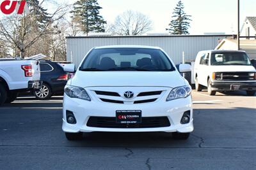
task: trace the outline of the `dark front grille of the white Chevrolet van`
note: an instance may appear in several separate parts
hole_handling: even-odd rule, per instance
[[[248,72],[223,72],[216,73],[216,80],[247,81],[252,80]]]

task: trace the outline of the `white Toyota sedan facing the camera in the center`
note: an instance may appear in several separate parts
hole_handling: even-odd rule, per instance
[[[83,132],[171,132],[188,139],[194,129],[191,87],[180,75],[188,71],[188,64],[175,67],[158,47],[93,48],[65,87],[67,139]]]

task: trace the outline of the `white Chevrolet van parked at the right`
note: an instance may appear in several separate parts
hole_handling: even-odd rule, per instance
[[[211,96],[218,91],[246,90],[248,96],[254,96],[256,92],[256,70],[243,51],[199,52],[194,76],[196,90],[207,87]]]

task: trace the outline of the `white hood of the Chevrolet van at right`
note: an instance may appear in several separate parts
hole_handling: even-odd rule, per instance
[[[211,70],[214,72],[255,72],[253,66],[212,66]]]

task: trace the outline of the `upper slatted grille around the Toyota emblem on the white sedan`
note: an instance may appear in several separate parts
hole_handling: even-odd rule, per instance
[[[143,103],[153,103],[161,97],[163,90],[150,91],[150,92],[137,92],[137,96],[133,99],[125,99],[118,92],[109,92],[109,91],[99,91],[93,90],[96,96],[100,101],[106,103],[115,103],[115,104],[143,104]]]

